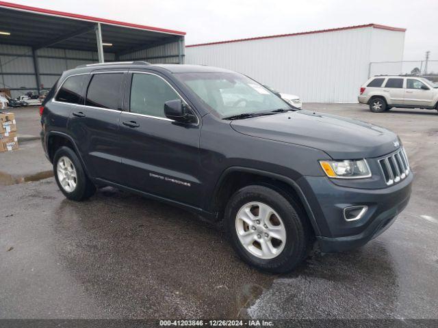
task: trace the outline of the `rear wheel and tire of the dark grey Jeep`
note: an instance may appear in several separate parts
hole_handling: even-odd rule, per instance
[[[57,187],[69,200],[86,200],[96,192],[96,187],[86,176],[77,154],[69,147],[61,147],[55,152],[53,173]]]

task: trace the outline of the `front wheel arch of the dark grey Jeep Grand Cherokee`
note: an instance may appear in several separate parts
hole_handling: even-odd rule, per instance
[[[320,228],[316,222],[313,211],[307,201],[307,197],[302,192],[298,184],[287,176],[275,174],[272,172],[263,171],[260,169],[252,169],[248,167],[229,167],[222,172],[213,193],[213,202],[211,204],[211,212],[217,213],[218,219],[223,219],[224,208],[229,200],[238,189],[250,184],[261,184],[266,187],[271,187],[277,192],[292,197],[302,210],[307,215],[309,223],[313,228],[316,236],[320,235]]]

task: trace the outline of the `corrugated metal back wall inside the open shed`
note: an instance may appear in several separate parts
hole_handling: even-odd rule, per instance
[[[82,64],[98,62],[97,52],[64,49],[37,51],[40,83],[50,88],[64,70]],[[105,60],[114,61],[113,53],[105,53]],[[0,88],[12,89],[12,97],[36,92],[36,77],[32,50],[28,46],[0,44]],[[16,90],[14,90],[16,89]]]

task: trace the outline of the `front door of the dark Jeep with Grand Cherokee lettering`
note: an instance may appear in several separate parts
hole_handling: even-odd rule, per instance
[[[120,140],[127,186],[199,206],[199,117],[196,123],[166,118],[164,103],[183,98],[171,81],[155,72],[130,72],[125,98]]]

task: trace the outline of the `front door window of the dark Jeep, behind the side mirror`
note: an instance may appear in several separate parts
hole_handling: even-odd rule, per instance
[[[180,99],[177,92],[153,74],[133,74],[130,109],[132,113],[166,118],[164,102]]]

